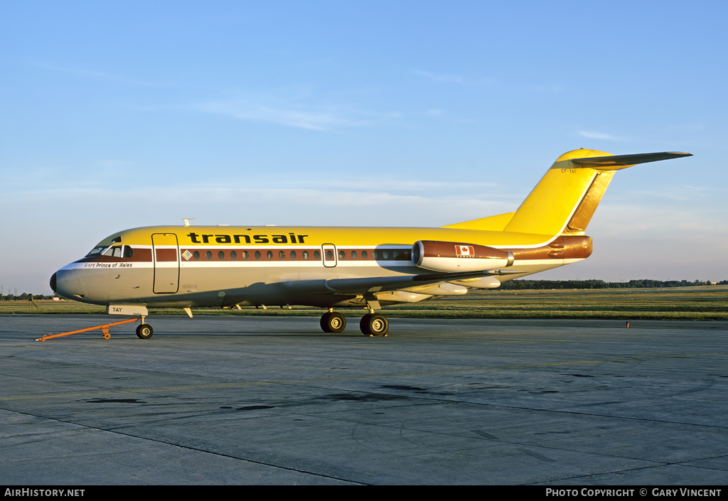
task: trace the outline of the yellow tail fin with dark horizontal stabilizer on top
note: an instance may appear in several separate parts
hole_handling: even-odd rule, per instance
[[[577,149],[558,157],[503,229],[549,235],[583,234],[612,181],[614,171],[689,153],[612,155]]]

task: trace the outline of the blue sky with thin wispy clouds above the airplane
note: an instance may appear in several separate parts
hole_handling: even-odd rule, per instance
[[[156,224],[442,226],[577,148],[617,173],[587,261],[728,279],[728,4],[0,1],[0,285]]]

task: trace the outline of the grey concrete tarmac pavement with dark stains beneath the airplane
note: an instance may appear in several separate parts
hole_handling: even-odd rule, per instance
[[[709,485],[728,324],[0,316],[0,484]]]

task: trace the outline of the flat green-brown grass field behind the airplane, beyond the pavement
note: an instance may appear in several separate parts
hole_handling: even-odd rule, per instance
[[[104,313],[105,307],[75,301],[0,301],[0,315],[13,313]],[[362,309],[338,309],[358,317]],[[321,308],[192,309],[194,315],[320,316]],[[596,318],[620,320],[728,320],[728,285],[653,289],[471,291],[422,303],[384,307],[388,317],[410,318]],[[151,315],[185,315],[181,309],[151,309]]]

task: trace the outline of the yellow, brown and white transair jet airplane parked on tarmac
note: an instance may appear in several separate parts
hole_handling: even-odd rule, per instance
[[[515,212],[440,228],[149,226],[116,232],[50,279],[68,299],[141,317],[148,308],[320,307],[327,333],[368,312],[365,336],[386,336],[379,310],[456,296],[561,267],[592,253],[585,230],[617,170],[692,154],[612,155],[577,149],[558,157]]]

